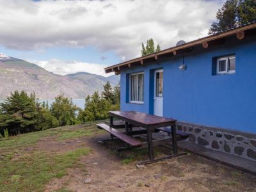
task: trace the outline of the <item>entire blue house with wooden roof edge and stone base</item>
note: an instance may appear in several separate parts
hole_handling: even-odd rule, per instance
[[[105,68],[121,110],[178,120],[189,142],[256,161],[256,23]]]

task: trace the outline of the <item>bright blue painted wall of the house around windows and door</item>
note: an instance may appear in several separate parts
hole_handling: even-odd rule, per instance
[[[212,59],[236,54],[236,74],[212,75]],[[182,57],[173,56],[121,71],[121,109],[153,113],[152,76],[164,69],[163,116],[181,122],[256,132],[256,38],[228,38],[224,45],[195,47]],[[127,74],[144,72],[144,104],[127,100]],[[151,87],[150,87],[151,86]]]

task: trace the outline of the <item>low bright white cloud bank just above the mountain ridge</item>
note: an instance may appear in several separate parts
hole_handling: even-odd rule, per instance
[[[97,63],[86,63],[79,61],[63,61],[58,59],[52,59],[49,61],[29,61],[35,63],[42,68],[45,68],[48,71],[53,72],[54,74],[67,75],[74,74],[76,72],[89,72],[91,74],[98,74],[101,76],[109,76],[105,74],[104,67],[105,65]]]

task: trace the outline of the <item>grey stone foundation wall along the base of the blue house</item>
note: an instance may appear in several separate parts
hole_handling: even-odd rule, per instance
[[[187,139],[212,150],[256,161],[256,134],[177,122],[177,129],[191,134]]]

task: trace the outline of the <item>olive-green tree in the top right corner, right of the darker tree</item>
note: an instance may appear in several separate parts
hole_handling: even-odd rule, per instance
[[[246,24],[256,20],[256,1],[239,0],[237,7],[239,24]]]

